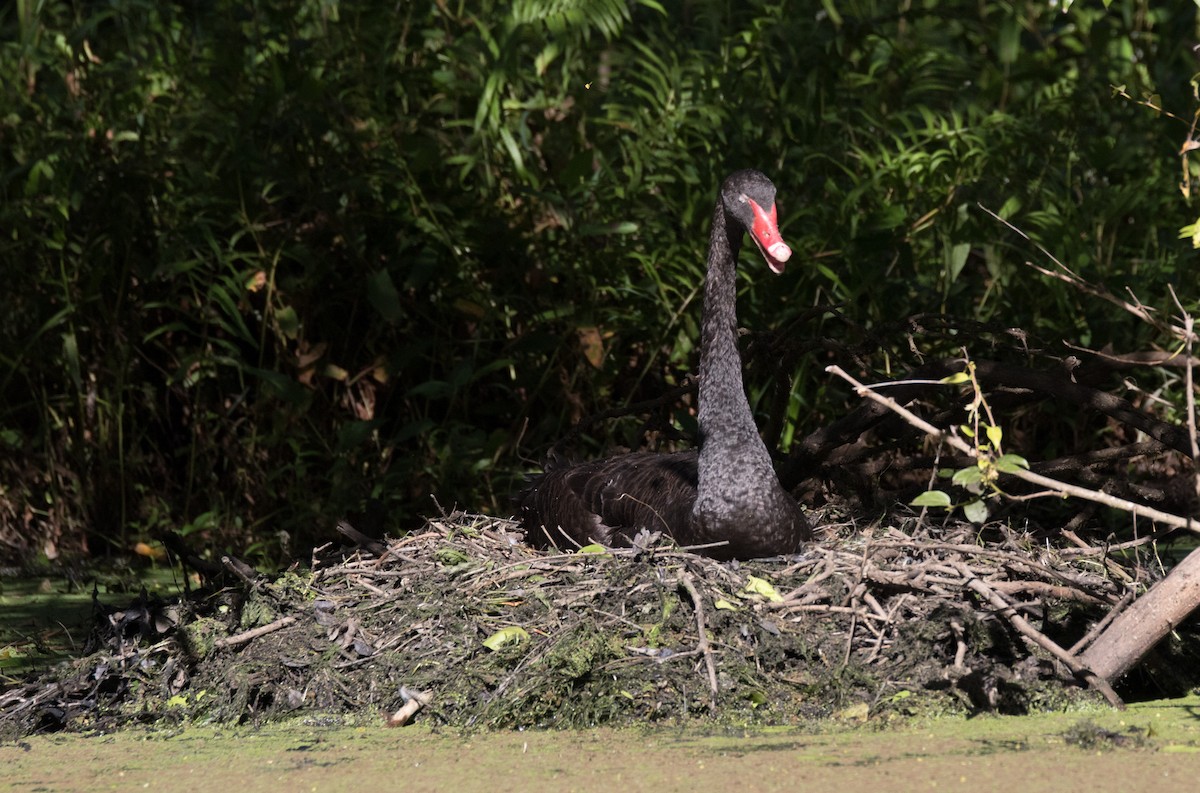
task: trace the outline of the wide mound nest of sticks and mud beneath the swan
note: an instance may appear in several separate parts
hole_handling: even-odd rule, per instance
[[[719,563],[656,536],[547,554],[461,512],[386,542],[343,524],[360,542],[318,548],[310,570],[266,579],[226,558],[180,601],[97,603],[91,653],[10,686],[0,732],[1026,713],[1097,696],[1063,657],[1160,577],[1145,542],[916,516],[826,527],[794,557]]]

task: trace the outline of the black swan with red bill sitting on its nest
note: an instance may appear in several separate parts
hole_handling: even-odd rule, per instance
[[[779,485],[742,384],[737,256],[745,232],[780,274],[792,251],[779,233],[775,186],[738,170],[721,186],[708,242],[700,356],[700,451],[635,452],[547,467],[517,495],[527,540],[540,547],[629,546],[662,531],[719,559],[793,553],[808,521]],[[720,545],[712,545],[720,543]]]

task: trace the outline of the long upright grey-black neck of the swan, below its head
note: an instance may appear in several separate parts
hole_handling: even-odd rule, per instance
[[[719,200],[708,247],[701,330],[697,515],[727,512],[731,504],[746,501],[748,491],[775,481],[742,383],[736,265],[743,234],[737,223],[727,222]]]

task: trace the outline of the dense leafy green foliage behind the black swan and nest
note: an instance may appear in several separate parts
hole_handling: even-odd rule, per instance
[[[274,558],[367,505],[506,513],[574,421],[695,368],[733,168],[798,253],[745,268],[748,328],[840,302],[1128,349],[976,205],[1115,292],[1190,289],[1187,125],[1112,86],[1188,116],[1196,32],[1136,0],[18,0],[0,540]],[[785,443],[840,410],[822,365],[751,372]]]

